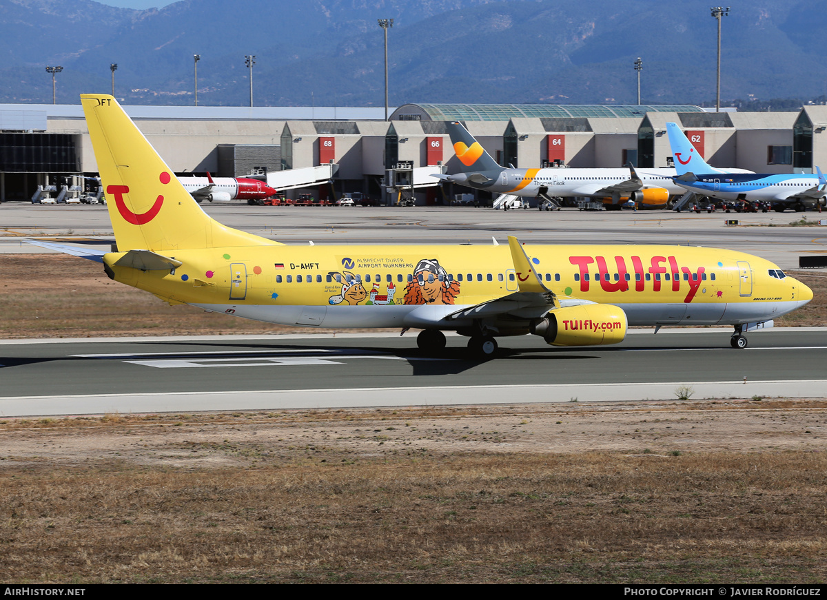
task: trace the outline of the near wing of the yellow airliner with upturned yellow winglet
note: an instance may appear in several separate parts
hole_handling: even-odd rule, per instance
[[[531,260],[528,260],[523,246],[514,236],[509,236],[509,249],[517,275],[518,291],[452,312],[445,317],[447,321],[460,318],[494,317],[502,314],[522,318],[539,318],[560,307],[557,295],[543,285],[543,281],[532,268]]]

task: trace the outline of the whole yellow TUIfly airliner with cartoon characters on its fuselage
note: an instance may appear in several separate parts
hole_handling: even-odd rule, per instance
[[[118,251],[70,253],[170,304],[283,325],[413,327],[426,350],[457,331],[489,356],[497,336],[605,345],[630,325],[732,325],[743,348],[749,325],[812,298],[775,264],[732,250],[513,236],[507,246],[282,245],[208,217],[112,96],[81,98]]]

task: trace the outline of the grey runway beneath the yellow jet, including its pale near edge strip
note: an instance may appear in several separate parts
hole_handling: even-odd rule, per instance
[[[500,338],[473,360],[449,336],[425,355],[414,335],[216,336],[0,342],[0,415],[194,412],[676,398],[827,398],[827,335],[635,330],[620,345],[552,348]]]

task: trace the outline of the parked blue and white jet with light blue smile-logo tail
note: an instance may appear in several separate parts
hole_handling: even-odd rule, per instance
[[[721,171],[706,164],[676,123],[667,123],[669,144],[675,157],[675,183],[690,192],[736,202],[770,202],[782,212],[786,207],[803,211],[825,206],[827,179],[818,174],[743,174]]]

